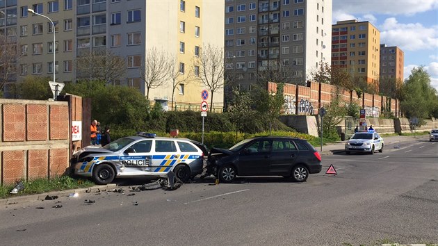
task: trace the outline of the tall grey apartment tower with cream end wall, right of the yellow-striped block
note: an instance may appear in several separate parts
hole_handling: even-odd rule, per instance
[[[241,90],[270,65],[290,69],[289,83],[305,83],[318,63],[330,63],[332,0],[226,0],[227,73]]]

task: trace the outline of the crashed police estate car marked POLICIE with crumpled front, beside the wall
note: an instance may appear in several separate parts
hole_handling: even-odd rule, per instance
[[[206,149],[200,142],[157,138],[153,133],[120,138],[102,148],[86,147],[72,156],[74,174],[97,184],[116,177],[160,177],[172,171],[181,181],[202,173]]]

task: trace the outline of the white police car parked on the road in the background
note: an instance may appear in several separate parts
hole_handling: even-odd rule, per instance
[[[346,142],[346,154],[350,154],[350,152],[369,152],[374,154],[376,150],[382,153],[383,146],[383,138],[378,133],[368,131],[357,132]]]

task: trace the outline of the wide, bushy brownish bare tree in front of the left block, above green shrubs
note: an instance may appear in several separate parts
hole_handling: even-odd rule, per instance
[[[140,63],[140,60],[138,60]],[[76,59],[79,78],[96,79],[111,83],[120,80],[127,69],[126,61],[109,49],[85,51]]]

